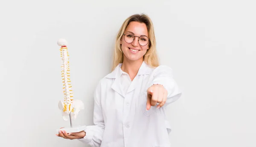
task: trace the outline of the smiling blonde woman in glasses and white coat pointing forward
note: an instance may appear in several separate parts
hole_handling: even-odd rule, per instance
[[[112,72],[96,87],[95,125],[59,136],[91,147],[170,147],[165,108],[180,96],[172,69],[158,63],[151,19],[132,15],[117,34]]]

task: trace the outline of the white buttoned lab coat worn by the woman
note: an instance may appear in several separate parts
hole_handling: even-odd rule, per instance
[[[87,126],[86,136],[79,139],[91,147],[170,147],[170,124],[166,106],[181,96],[165,65],[150,68],[145,62],[131,82],[127,92],[120,84],[121,63],[100,80],[94,94],[95,125]],[[168,91],[166,104],[146,110],[147,89],[161,84]]]

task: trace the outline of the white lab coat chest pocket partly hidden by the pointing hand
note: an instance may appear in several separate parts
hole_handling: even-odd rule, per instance
[[[147,93],[140,94],[141,99],[141,110],[145,116],[150,116],[151,114],[155,113],[157,110],[157,106],[151,106],[149,110],[147,110]]]

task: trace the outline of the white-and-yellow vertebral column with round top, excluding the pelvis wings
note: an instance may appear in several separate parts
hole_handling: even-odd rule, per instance
[[[63,94],[64,94],[64,103],[63,103],[63,112],[69,114],[74,112],[73,104],[73,90],[70,80],[70,66],[69,66],[69,53],[67,50],[67,41],[60,39],[58,45],[61,46],[61,78],[63,83]]]

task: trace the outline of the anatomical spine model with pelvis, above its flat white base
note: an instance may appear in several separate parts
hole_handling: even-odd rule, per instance
[[[62,110],[62,116],[65,121],[70,119],[72,127],[72,119],[76,119],[76,116],[80,110],[84,109],[84,104],[79,99],[73,99],[73,90],[70,80],[70,66],[69,66],[69,53],[67,51],[67,41],[64,39],[58,40],[57,44],[61,46],[61,78],[63,83],[64,102],[60,101],[58,107]],[[72,119],[71,119],[72,118]]]

